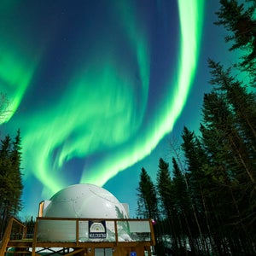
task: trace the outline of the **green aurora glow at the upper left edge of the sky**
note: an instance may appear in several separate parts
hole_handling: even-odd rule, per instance
[[[20,4],[19,0],[3,0],[0,3],[0,92],[8,100],[8,104],[1,109],[0,125],[7,123],[19,108],[44,48],[40,45],[26,48],[28,40],[23,34],[22,19],[15,17]],[[15,22],[20,23],[17,25]]]

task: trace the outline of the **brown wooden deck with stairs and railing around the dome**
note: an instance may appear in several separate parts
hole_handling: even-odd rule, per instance
[[[63,234],[63,227],[66,228],[66,221],[68,222],[68,227],[70,230],[67,230],[67,234]],[[137,256],[144,256],[145,251],[147,255],[151,255],[150,247],[154,246],[154,230],[150,220],[143,219],[108,219],[108,223],[112,224],[114,228],[114,234],[111,233],[113,241],[107,241],[106,239],[90,239],[85,237],[84,241],[81,241],[81,224],[87,224],[90,219],[81,219],[81,218],[37,218],[35,224],[35,231],[32,239],[26,238],[26,226],[21,224],[17,219],[12,218],[9,222],[9,226],[4,233],[3,241],[0,244],[0,256],[5,255],[50,255],[50,254],[59,254],[59,255],[88,255],[96,256],[102,255],[97,254],[97,250],[108,249],[108,254],[103,255],[113,255],[113,256],[123,256],[123,255],[133,255],[133,252],[136,252]],[[95,219],[93,220],[95,221]],[[102,220],[101,220],[102,221]],[[143,236],[137,236],[137,241],[123,241],[119,237],[119,227],[133,222],[133,226],[137,224],[149,225],[150,231],[145,235],[142,232]],[[20,225],[19,232],[17,234],[17,228],[14,229],[15,225]],[[43,224],[43,229],[42,227]],[[49,225],[52,224],[52,225]],[[58,224],[61,224],[60,226]],[[49,227],[53,226],[53,230],[49,230]],[[59,237],[52,236],[52,234],[59,234],[58,227],[60,227],[61,235]],[[84,227],[84,226],[83,226]],[[12,239],[14,236],[13,231],[15,230],[15,237],[20,236],[20,239]],[[45,230],[49,233],[45,233]],[[74,233],[72,233],[74,232]],[[84,232],[84,230],[83,230]],[[42,235],[43,234],[43,235]],[[84,233],[83,233],[84,235]],[[73,236],[73,241],[68,241],[68,237]],[[141,238],[141,237],[147,237]],[[48,240],[48,241],[46,241]],[[111,250],[111,254],[109,254]]]

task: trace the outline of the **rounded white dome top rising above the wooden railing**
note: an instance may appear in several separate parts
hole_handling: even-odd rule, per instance
[[[108,190],[93,184],[76,184],[61,189],[44,201],[44,217],[128,218],[125,207]]]

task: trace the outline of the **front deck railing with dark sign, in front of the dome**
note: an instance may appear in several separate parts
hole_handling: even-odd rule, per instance
[[[150,219],[134,218],[37,218],[37,242],[150,241],[154,230]]]

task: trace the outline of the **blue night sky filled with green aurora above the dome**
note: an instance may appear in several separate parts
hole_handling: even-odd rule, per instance
[[[207,58],[229,64],[217,0],[2,0],[0,135],[22,138],[24,210],[74,183],[137,208],[169,140],[197,130]]]

